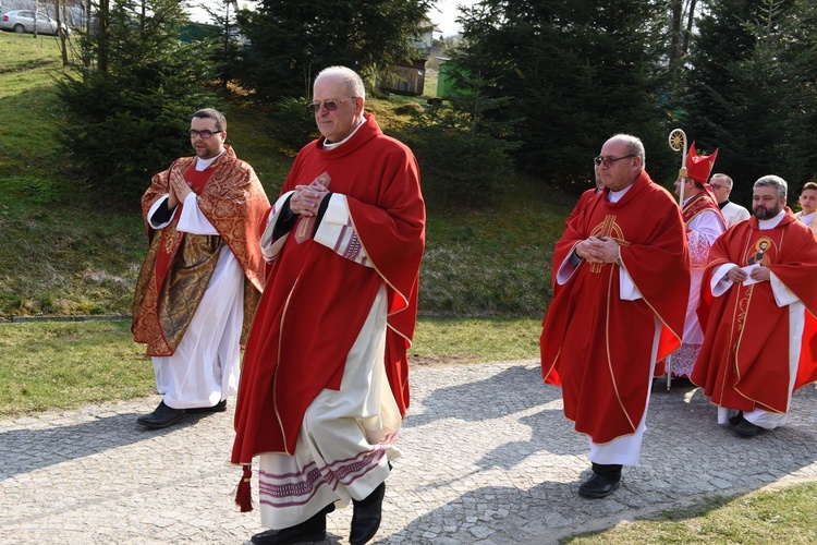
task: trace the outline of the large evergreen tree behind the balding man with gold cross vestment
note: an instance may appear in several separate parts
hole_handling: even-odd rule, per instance
[[[590,158],[618,132],[639,136],[648,169],[666,172],[667,13],[662,1],[483,0],[463,14],[455,62],[513,98],[498,114],[525,117],[517,164],[533,174],[585,189]]]

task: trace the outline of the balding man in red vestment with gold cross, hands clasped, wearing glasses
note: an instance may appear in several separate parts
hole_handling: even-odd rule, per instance
[[[675,201],[644,170],[641,140],[617,134],[594,159],[603,190],[553,252],[553,300],[540,338],[545,382],[589,439],[586,498],[619,488],[638,463],[655,362],[681,343],[690,291]]]

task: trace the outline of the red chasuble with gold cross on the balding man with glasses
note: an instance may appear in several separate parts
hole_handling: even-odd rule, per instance
[[[608,194],[568,225],[553,252],[553,278],[578,242],[611,237],[642,299],[620,299],[619,266],[583,262],[556,291],[540,338],[545,380],[561,384],[565,416],[597,444],[635,432],[650,387],[656,318],[660,359],[681,344],[690,293],[686,234],[672,196],[646,172],[618,203]]]

